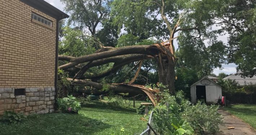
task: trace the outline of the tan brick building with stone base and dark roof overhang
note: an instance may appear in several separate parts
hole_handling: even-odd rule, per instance
[[[58,21],[44,0],[0,0],[0,114],[54,111]]]

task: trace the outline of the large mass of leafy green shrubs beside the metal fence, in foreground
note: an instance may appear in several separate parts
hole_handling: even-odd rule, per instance
[[[192,105],[184,98],[183,91],[178,91],[174,96],[170,95],[166,88],[158,96],[162,99],[153,109],[153,123],[156,131],[161,135],[187,134],[185,127],[184,129],[182,127],[177,129],[175,126],[171,126],[171,123],[176,125],[177,122],[175,121],[187,121],[187,124],[196,134],[203,134],[203,130],[211,134],[219,132],[219,124],[222,124],[223,121],[221,115],[217,113],[218,106],[207,106],[201,103]]]

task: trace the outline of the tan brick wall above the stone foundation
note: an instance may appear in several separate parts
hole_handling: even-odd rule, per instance
[[[32,22],[31,12],[52,21]],[[19,0],[0,0],[0,87],[54,87],[56,19]]]

